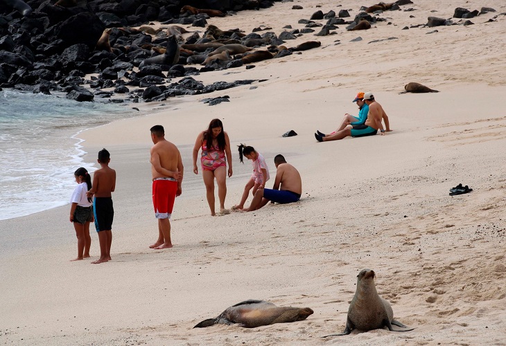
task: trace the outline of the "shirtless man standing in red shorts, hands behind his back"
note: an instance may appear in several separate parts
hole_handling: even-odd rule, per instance
[[[171,213],[174,199],[180,196],[183,180],[183,163],[180,151],[165,139],[162,125],[151,127],[150,162],[152,175],[152,199],[155,217],[158,219],[158,239],[150,248],[171,248]]]

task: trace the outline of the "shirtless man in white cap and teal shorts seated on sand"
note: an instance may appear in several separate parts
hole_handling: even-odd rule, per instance
[[[364,137],[364,136],[374,136],[378,133],[378,129],[380,130],[381,135],[385,134],[385,131],[390,132],[390,122],[388,121],[387,113],[381,107],[381,104],[374,100],[374,95],[371,92],[364,94],[364,102],[369,106],[369,113],[367,113],[367,120],[365,120],[364,125],[356,126],[353,128],[347,127],[341,131],[335,132],[330,136],[320,136],[320,134],[315,134],[315,138],[318,142],[327,142],[329,140],[342,139],[347,136],[351,137]],[[383,129],[383,124],[381,120],[385,122],[386,129]]]

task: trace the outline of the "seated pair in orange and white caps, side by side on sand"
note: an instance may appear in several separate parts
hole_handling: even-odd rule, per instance
[[[392,131],[390,129],[390,122],[388,122],[387,113],[385,113],[381,104],[374,100],[374,95],[372,93],[360,92],[353,102],[356,102],[358,109],[360,109],[358,118],[348,113],[344,114],[344,119],[340,127],[331,134],[324,134],[320,131],[316,131],[315,138],[318,142],[342,139],[347,136],[373,136],[378,133],[378,129],[382,135],[385,134],[385,131]],[[383,129],[381,120],[385,122],[386,129]]]

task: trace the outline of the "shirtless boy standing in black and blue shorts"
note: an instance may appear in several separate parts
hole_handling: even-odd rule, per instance
[[[102,149],[98,152],[97,161],[101,167],[94,172],[93,188],[87,192],[87,197],[95,196],[93,211],[98,242],[100,243],[100,258],[91,262],[92,264],[111,260],[112,219],[114,217],[111,193],[116,188],[116,171],[109,167],[110,153],[106,149]]]

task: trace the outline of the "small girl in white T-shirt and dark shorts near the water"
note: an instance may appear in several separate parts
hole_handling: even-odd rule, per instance
[[[86,196],[86,192],[91,189],[91,176],[85,167],[79,167],[73,175],[79,185],[73,191],[70,199],[69,219],[73,223],[78,238],[78,257],[71,261],[78,261],[89,257],[89,247],[91,246],[89,223],[93,222],[94,218],[91,199]]]

